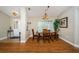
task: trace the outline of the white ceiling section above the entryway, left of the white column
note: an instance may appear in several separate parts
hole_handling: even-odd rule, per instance
[[[14,17],[12,15],[12,12],[13,11],[17,11],[18,12],[18,16],[19,16],[19,11],[20,11],[20,7],[15,7],[15,6],[0,6],[0,11],[11,16],[11,17]],[[16,17],[18,17],[16,16]]]

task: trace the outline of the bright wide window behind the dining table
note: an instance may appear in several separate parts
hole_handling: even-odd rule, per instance
[[[43,29],[54,31],[52,21],[40,21],[37,25],[37,31],[42,32]]]

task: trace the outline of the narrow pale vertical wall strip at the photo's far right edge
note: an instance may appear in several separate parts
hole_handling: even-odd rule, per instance
[[[75,7],[75,45],[79,47],[79,7]]]

